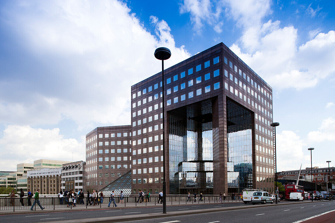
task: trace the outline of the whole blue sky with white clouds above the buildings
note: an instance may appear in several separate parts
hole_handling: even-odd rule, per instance
[[[335,162],[334,1],[1,1],[1,170],[85,160],[130,124],[130,86],[223,42],[273,88],[278,171]],[[137,55],[141,55],[138,57]],[[71,161],[71,160],[69,160]]]

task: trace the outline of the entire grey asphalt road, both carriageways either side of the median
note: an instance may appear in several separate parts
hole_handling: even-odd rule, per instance
[[[281,202],[284,203],[284,202]],[[290,202],[288,202],[290,203]],[[224,203],[224,204],[202,204],[202,205],[182,205],[182,206],[168,206],[167,212],[173,211],[188,211],[188,210],[199,210],[208,208],[219,208],[219,207],[243,207],[257,205],[244,204],[244,203]],[[221,221],[226,222],[258,222],[262,219],[280,219],[281,223],[294,222],[297,220],[311,217],[329,210],[335,209],[335,202],[302,202],[299,204],[282,205],[275,207],[275,204],[267,204],[257,208],[246,209],[246,210],[235,210],[235,211],[224,211],[215,213],[206,213],[199,215],[187,215],[179,217],[159,218],[153,220],[145,220],[145,223],[149,222],[166,222],[166,221],[182,221],[182,222],[215,222]],[[34,213],[31,211],[30,214],[14,214],[14,215],[2,215],[0,219],[2,222],[49,222],[49,221],[66,221],[74,219],[91,219],[98,217],[113,217],[113,216],[127,216],[127,215],[141,215],[149,213],[161,213],[162,207],[136,207],[136,208],[109,208],[99,210],[73,210],[69,212],[43,212]],[[210,221],[208,220],[210,219]],[[133,221],[142,222],[143,221]]]

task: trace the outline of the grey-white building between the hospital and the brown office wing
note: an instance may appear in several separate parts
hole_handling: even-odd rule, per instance
[[[62,191],[74,190],[78,193],[79,190],[83,191],[83,171],[86,162],[77,161],[66,163],[62,165]]]

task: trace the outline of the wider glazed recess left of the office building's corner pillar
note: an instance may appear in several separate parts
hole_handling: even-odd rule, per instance
[[[212,102],[169,111],[170,194],[213,193]]]

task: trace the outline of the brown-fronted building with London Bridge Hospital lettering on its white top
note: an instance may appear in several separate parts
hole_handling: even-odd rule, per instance
[[[28,170],[27,189],[33,193],[40,189],[40,194],[58,194],[61,190],[61,172],[62,167]]]

